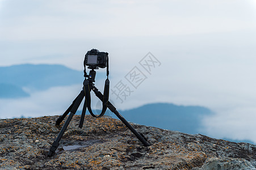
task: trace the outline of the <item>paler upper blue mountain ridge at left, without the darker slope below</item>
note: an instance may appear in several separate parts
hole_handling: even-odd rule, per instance
[[[0,67],[0,83],[45,90],[52,86],[78,83],[83,73],[62,65],[15,65]]]

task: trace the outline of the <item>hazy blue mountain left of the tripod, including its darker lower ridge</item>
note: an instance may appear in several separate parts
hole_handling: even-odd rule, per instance
[[[102,78],[99,73],[97,78]],[[23,88],[47,90],[50,87],[69,86],[83,82],[83,71],[62,65],[14,65],[0,67],[0,98],[29,96]]]

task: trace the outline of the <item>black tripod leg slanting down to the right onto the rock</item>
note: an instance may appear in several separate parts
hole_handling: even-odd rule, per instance
[[[93,88],[93,91],[95,93],[95,95],[101,100],[103,101],[103,95],[100,91],[98,91],[98,89],[96,87]],[[147,142],[147,140],[145,139],[144,135],[138,133],[128,122],[127,120],[125,120],[125,118],[123,116],[121,116],[121,114],[119,112],[117,112],[116,108],[114,107],[114,105],[112,105],[110,103],[110,101],[108,101],[107,104],[108,109],[110,109],[111,112],[115,113],[116,116],[124,123],[125,126],[127,126],[127,128],[129,128],[133,134],[136,135],[136,137],[143,143],[144,146],[150,146],[150,144]]]

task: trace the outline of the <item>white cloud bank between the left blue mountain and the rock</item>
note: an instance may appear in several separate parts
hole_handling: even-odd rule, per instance
[[[81,88],[81,85],[53,87],[47,91],[33,92],[30,97],[22,99],[1,99],[0,118],[40,117],[63,114],[76,95],[79,94]]]

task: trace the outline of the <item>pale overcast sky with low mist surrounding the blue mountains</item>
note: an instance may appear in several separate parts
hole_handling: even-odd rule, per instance
[[[85,53],[96,48],[109,53],[112,89],[129,84],[136,69],[146,77],[123,102],[110,96],[117,108],[200,105],[215,112],[204,119],[208,135],[256,142],[255,19],[255,0],[0,0],[0,66],[49,63],[82,72]],[[140,63],[150,55],[156,66],[148,72]],[[2,100],[9,107],[1,112],[54,115],[80,90]],[[69,91],[66,100],[53,95],[59,91]]]

